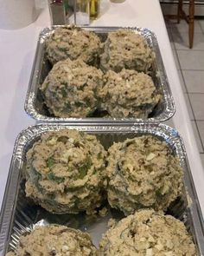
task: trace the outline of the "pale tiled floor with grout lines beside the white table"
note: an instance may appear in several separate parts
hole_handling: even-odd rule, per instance
[[[204,20],[194,22],[194,47],[188,49],[188,24],[166,22],[194,135],[204,167]]]

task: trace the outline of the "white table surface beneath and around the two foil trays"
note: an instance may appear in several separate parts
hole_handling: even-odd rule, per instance
[[[91,23],[92,26],[139,26],[156,33],[176,105],[175,116],[169,123],[178,129],[185,142],[194,184],[204,213],[204,172],[160,3],[158,0],[126,0],[124,3],[101,1],[101,15]],[[24,100],[38,34],[42,28],[50,25],[47,1],[41,0],[40,3],[40,14],[35,23],[21,30],[0,30],[0,207],[16,136],[23,128],[35,124],[24,111]]]

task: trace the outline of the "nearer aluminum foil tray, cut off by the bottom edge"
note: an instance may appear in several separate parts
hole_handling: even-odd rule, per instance
[[[192,234],[197,246],[198,255],[204,255],[204,231],[201,209],[194,189],[194,181],[188,166],[188,160],[183,142],[178,132],[164,124],[138,124],[137,126],[74,126],[66,124],[41,124],[27,128],[18,136],[10,164],[10,173],[3,199],[0,220],[0,255],[16,248],[19,235],[30,232],[36,225],[57,223],[80,228],[91,234],[93,243],[98,246],[102,233],[105,233],[108,220],[118,217],[117,211],[110,211],[105,217],[87,220],[85,214],[78,215],[48,213],[36,206],[24,194],[25,154],[41,134],[62,128],[76,128],[89,134],[94,134],[107,149],[113,141],[124,141],[140,135],[155,135],[161,141],[166,141],[181,162],[184,170],[184,189],[182,197],[175,200],[169,207],[169,214],[182,220]],[[2,253],[2,254],[1,254]]]

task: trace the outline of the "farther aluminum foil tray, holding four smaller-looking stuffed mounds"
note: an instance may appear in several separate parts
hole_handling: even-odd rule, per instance
[[[56,27],[54,26],[52,29],[44,29],[41,31],[39,36],[35,61],[33,64],[33,70],[31,73],[31,78],[29,82],[29,89],[26,96],[25,101],[25,110],[26,112],[35,118],[37,121],[50,121],[50,122],[69,122],[69,123],[105,123],[105,124],[117,124],[117,123],[134,123],[141,122],[142,119],[138,118],[124,118],[124,119],[115,119],[112,117],[109,118],[61,118],[54,117],[48,113],[48,109],[46,108],[41,92],[39,90],[40,84],[44,81],[45,77],[48,75],[49,70],[51,69],[51,65],[48,62],[48,58],[45,51],[45,43],[48,36],[54,32]],[[84,30],[90,30],[96,32],[102,41],[105,40],[108,32],[118,30],[119,27],[82,27]],[[156,40],[156,36],[150,30],[141,29],[141,28],[126,28],[127,30],[133,30],[137,33],[143,35],[150,48],[153,49],[156,55],[156,61],[153,64],[153,72],[152,78],[155,82],[156,88],[163,95],[163,100],[156,105],[153,112],[151,113],[150,118],[145,121],[148,122],[161,122],[166,121],[170,117],[175,114],[175,104],[169,89],[168,78],[163,66],[162,56],[159,50],[159,46]]]

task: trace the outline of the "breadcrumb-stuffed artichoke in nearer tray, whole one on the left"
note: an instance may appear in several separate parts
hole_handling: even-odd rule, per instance
[[[105,200],[105,157],[95,135],[41,135],[27,153],[26,195],[51,213],[94,213]]]

